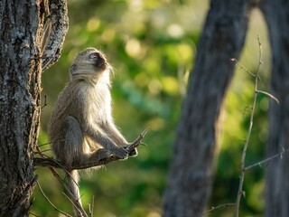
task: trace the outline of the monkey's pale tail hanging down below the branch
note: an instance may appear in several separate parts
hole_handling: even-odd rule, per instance
[[[75,202],[79,203],[82,208],[80,193],[79,193],[79,172],[77,170],[71,170],[66,174],[68,180],[68,188],[70,193],[72,193]],[[73,204],[74,212],[77,217],[82,217],[83,215],[79,212],[79,209],[75,204]]]

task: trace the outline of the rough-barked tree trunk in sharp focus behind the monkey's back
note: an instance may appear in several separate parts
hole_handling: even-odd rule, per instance
[[[0,216],[28,216],[32,205],[44,11],[43,1],[0,1]]]

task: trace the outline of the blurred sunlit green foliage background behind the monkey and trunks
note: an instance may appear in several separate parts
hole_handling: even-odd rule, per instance
[[[105,52],[115,68],[113,113],[126,138],[133,141],[145,127],[150,127],[144,138],[148,146],[140,146],[137,157],[109,164],[92,175],[83,173],[80,182],[82,203],[88,211],[94,198],[95,216],[162,215],[162,197],[175,129],[209,4],[203,0],[69,1],[70,30],[61,59],[42,75],[42,103],[46,96],[48,105],[42,109],[39,144],[48,142],[47,122],[55,99],[69,80],[70,62],[77,52],[87,47]],[[253,11],[240,60],[252,72],[256,72],[258,63],[257,34],[260,34],[264,62],[260,89],[266,90],[270,69],[266,25],[262,15]],[[237,67],[221,120],[219,157],[208,209],[222,203],[235,203],[240,156],[253,94],[254,78]],[[247,165],[264,158],[267,109],[268,99],[259,96]],[[42,150],[48,150],[47,155],[51,155],[49,149],[50,146],[42,146]],[[61,184],[50,171],[37,168],[35,173],[51,202],[72,214]],[[247,172],[241,216],[262,216],[264,186],[264,168],[256,167]],[[35,187],[33,198],[33,213],[60,215],[46,202],[38,187]],[[211,216],[232,216],[232,213],[232,208],[226,208],[212,212]]]

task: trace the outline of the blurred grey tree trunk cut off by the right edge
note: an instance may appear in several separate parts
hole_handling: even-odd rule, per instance
[[[266,155],[289,148],[289,2],[264,0],[272,50],[271,93],[280,101],[270,101],[269,138]],[[289,216],[289,156],[277,158],[266,167],[266,216]]]

